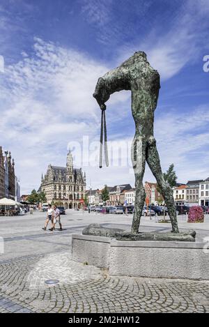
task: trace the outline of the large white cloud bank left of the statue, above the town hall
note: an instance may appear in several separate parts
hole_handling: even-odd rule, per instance
[[[0,79],[1,145],[15,158],[22,192],[38,187],[49,163],[65,165],[68,142],[97,135],[100,109],[92,94],[107,70],[39,38],[33,56],[6,66]]]

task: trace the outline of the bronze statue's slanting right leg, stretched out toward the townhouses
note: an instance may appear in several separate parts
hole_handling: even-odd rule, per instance
[[[176,217],[176,207],[173,199],[173,192],[169,184],[164,180],[162,169],[160,166],[160,158],[157,152],[156,141],[154,137],[150,137],[146,151],[146,160],[156,178],[157,184],[160,187],[162,196],[168,208],[169,217],[171,219],[172,231],[178,233],[178,222]]]

